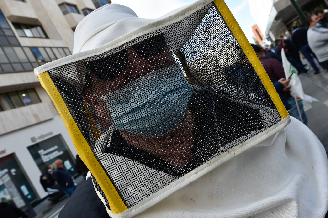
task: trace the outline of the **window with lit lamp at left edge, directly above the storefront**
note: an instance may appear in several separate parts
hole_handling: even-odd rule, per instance
[[[40,102],[41,100],[34,89],[10,91],[0,94],[0,106],[2,110],[20,108]]]

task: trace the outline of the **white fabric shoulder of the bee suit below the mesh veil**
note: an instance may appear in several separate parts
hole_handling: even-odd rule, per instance
[[[328,162],[297,119],[136,218],[324,217]]]

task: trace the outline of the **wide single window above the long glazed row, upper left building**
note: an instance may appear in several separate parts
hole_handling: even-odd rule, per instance
[[[48,38],[41,26],[13,23],[20,37]]]

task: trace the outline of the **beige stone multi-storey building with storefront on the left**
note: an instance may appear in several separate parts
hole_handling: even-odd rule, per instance
[[[0,180],[0,201],[17,205],[25,198],[35,204],[46,197],[40,175],[47,175],[58,158],[72,176],[77,174],[71,138],[33,69],[71,55],[77,24],[105,4],[106,0],[0,1],[0,178],[10,173],[23,193],[13,196]]]

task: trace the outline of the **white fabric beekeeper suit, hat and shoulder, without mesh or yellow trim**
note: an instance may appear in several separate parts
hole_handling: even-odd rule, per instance
[[[174,10],[170,14],[180,10],[186,12],[186,10],[207,3],[210,1],[197,1],[194,3],[195,7],[186,6]],[[196,10],[191,9],[186,13],[193,11]],[[169,20],[170,14],[163,17]],[[131,36],[134,36],[133,34],[139,34],[134,30],[142,29],[147,23],[151,25],[157,20],[160,18],[138,18],[131,9],[124,6],[105,5],[87,15],[76,28],[72,59],[67,57],[61,63],[58,61],[52,65],[51,63],[46,64],[45,67],[36,69],[35,73],[39,75],[46,70],[60,67],[63,63],[71,63],[92,55],[102,54],[104,52],[102,49],[110,50],[115,48],[116,44],[122,45],[129,42]],[[168,24],[165,23],[165,25]],[[147,33],[145,28],[142,30],[145,31],[140,31],[138,36],[142,36],[141,33]],[[149,30],[149,32],[151,31]],[[193,33],[193,31],[190,32]],[[184,34],[178,42],[172,43],[166,34],[164,32],[166,43],[172,50],[186,44],[191,37],[191,34]],[[176,33],[171,32],[171,34]],[[285,121],[280,121],[282,126],[289,121],[288,117],[284,119]],[[326,152],[310,129],[297,119],[293,117],[290,119],[290,124],[284,129],[278,132],[275,130],[277,128],[266,131],[265,134],[271,134],[271,136],[264,141],[254,146],[256,140],[260,141],[258,138],[254,139],[253,144],[250,143],[249,147],[245,147],[237,156],[228,155],[227,161],[223,161],[219,166],[212,165],[215,166],[212,167],[212,170],[195,173],[195,175],[197,174],[196,178],[183,181],[183,186],[174,189],[174,185],[170,184],[173,188],[171,192],[164,192],[162,198],[149,197],[146,199],[147,203],[144,204],[149,206],[144,209],[138,210],[144,206],[140,204],[145,200],[141,203],[136,202],[136,206],[133,204],[132,208],[127,210],[130,214],[126,217],[324,217],[328,208]],[[97,144],[99,140],[95,142],[96,147],[99,146]],[[94,154],[98,155],[96,152]],[[108,159],[121,158],[122,163],[128,160],[126,157],[116,157],[114,154],[105,154],[105,156]],[[100,155],[97,158],[101,159]],[[148,166],[143,169],[155,171]],[[115,169],[113,169],[114,172]],[[90,172],[87,179],[89,177],[91,177]],[[115,179],[113,177],[112,179]],[[147,187],[146,184],[145,187]],[[99,189],[95,189],[101,202],[106,205]],[[133,188],[131,192],[133,192]],[[87,200],[86,196],[86,205],[88,204]],[[70,201],[74,201],[74,193]],[[110,211],[107,206],[106,209],[111,216],[125,217],[123,213],[123,215],[112,214],[113,211]],[[67,210],[74,211],[74,208],[67,208]],[[92,211],[90,213],[92,214]]]

